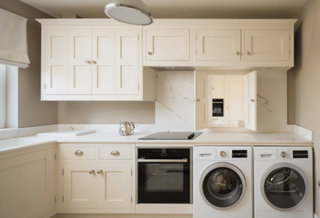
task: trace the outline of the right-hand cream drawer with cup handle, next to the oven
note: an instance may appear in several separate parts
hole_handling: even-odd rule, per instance
[[[111,153],[114,153],[114,154],[111,154]],[[99,159],[100,160],[131,160],[132,147],[100,147]]]

